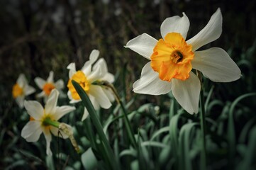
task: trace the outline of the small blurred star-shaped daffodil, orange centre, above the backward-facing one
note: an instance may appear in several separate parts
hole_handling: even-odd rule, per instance
[[[52,89],[57,89],[58,91],[61,92],[61,89],[64,88],[64,82],[62,79],[59,79],[56,82],[54,82],[52,71],[50,72],[49,77],[46,81],[40,77],[35,77],[35,84],[38,85],[38,87],[43,90],[40,94],[37,95],[37,97],[38,98],[44,97],[45,102],[47,101],[48,96],[50,95],[50,92],[52,91]]]

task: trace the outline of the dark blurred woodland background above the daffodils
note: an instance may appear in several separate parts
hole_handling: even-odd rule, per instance
[[[93,49],[100,50],[113,74],[127,64],[128,82],[133,82],[146,60],[123,45],[142,33],[159,39],[162,21],[182,16],[183,11],[191,23],[191,38],[220,7],[223,33],[208,47],[232,50],[231,57],[238,61],[255,42],[255,4],[249,0],[1,0],[1,96],[9,96],[20,73],[30,80],[46,79],[50,70],[57,78],[67,77],[69,62],[76,62],[79,69]],[[255,66],[255,57],[250,62]]]

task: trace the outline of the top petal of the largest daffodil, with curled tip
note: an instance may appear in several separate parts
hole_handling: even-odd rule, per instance
[[[183,16],[172,16],[166,18],[161,25],[161,35],[162,38],[165,38],[167,33],[180,33],[184,40],[187,38],[187,32],[189,30],[189,18],[187,18],[185,13],[182,13]]]

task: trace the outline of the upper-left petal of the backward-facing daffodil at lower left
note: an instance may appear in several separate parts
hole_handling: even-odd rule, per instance
[[[24,101],[24,106],[28,115],[35,120],[40,120],[43,117],[43,106],[38,101]]]

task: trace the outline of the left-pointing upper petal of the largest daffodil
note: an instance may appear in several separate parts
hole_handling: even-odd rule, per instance
[[[157,40],[155,40],[155,38],[152,38],[150,35],[143,33],[142,35],[138,35],[137,37],[127,42],[125,47],[130,48],[130,50],[133,50],[134,52],[137,52],[146,59],[150,60],[150,56],[152,55],[156,44]]]

